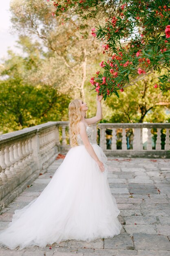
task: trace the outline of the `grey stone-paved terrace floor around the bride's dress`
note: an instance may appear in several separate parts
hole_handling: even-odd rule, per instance
[[[15,209],[38,197],[62,159],[1,210],[0,229],[7,227]],[[18,251],[0,249],[0,256],[170,256],[170,159],[108,157],[108,181],[121,213],[121,234],[91,243],[67,240]]]

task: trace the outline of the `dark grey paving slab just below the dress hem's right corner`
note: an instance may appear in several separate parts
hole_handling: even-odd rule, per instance
[[[121,233],[113,238],[104,239],[105,249],[133,249],[132,238],[129,234]]]

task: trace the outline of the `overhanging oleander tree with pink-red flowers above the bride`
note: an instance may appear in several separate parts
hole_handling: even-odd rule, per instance
[[[48,0],[49,1],[49,0]],[[52,0],[53,1],[53,0]],[[145,76],[161,70],[153,85],[162,92],[170,90],[170,2],[168,0],[57,0],[53,16],[69,19],[75,13],[82,20],[97,17],[103,10],[104,24],[91,28],[91,36],[103,41],[107,61],[91,77],[92,90],[113,93],[135,85]]]

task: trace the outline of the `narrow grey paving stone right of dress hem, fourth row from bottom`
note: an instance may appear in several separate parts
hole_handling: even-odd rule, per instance
[[[147,225],[147,224],[155,224],[157,222],[156,216],[126,216],[124,217],[124,220],[126,222],[126,225],[131,225],[134,223]]]

